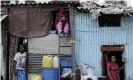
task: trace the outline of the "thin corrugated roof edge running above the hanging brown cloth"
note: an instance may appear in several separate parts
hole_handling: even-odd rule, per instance
[[[36,2],[36,1],[25,1],[25,3],[11,3],[10,1],[1,1],[1,6],[10,6],[10,5],[36,5],[36,4],[79,4],[79,0],[53,0],[49,2]]]

